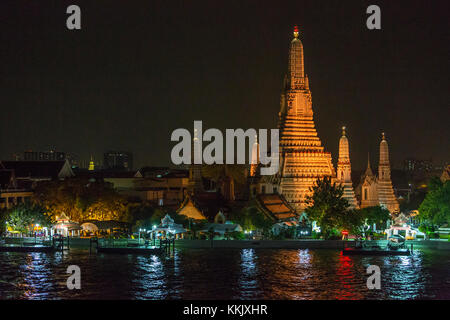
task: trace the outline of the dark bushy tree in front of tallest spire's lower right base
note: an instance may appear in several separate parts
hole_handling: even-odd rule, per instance
[[[357,222],[348,211],[348,201],[342,197],[344,189],[332,184],[330,177],[317,179],[310,191],[312,195],[306,197],[305,212],[309,220],[317,222],[325,238],[333,234],[333,229],[348,228]]]

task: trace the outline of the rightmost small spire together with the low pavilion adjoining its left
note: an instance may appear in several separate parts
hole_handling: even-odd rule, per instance
[[[367,169],[361,177],[357,193],[361,199],[361,208],[380,205],[388,209],[390,213],[397,213],[400,210],[392,187],[389,148],[384,133],[380,142],[378,177],[373,174],[370,160],[368,160]]]

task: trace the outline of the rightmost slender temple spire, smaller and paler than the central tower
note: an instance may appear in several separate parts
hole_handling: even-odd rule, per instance
[[[391,181],[391,167],[389,165],[389,148],[384,132],[380,142],[380,162],[378,165],[378,199],[381,206],[391,213],[399,211],[399,203],[394,194]]]

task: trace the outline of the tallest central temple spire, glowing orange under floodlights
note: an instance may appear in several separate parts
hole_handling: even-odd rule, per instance
[[[280,192],[297,210],[317,178],[335,176],[331,153],[325,152],[314,126],[311,91],[304,71],[298,28],[289,50],[279,113]]]

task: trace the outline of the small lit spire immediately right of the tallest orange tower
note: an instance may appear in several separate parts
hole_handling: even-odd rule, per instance
[[[352,184],[352,167],[350,163],[350,151],[345,127],[342,127],[342,137],[339,140],[339,159],[337,164],[336,182],[344,188],[343,197],[347,199],[350,208],[358,208],[355,192]]]

